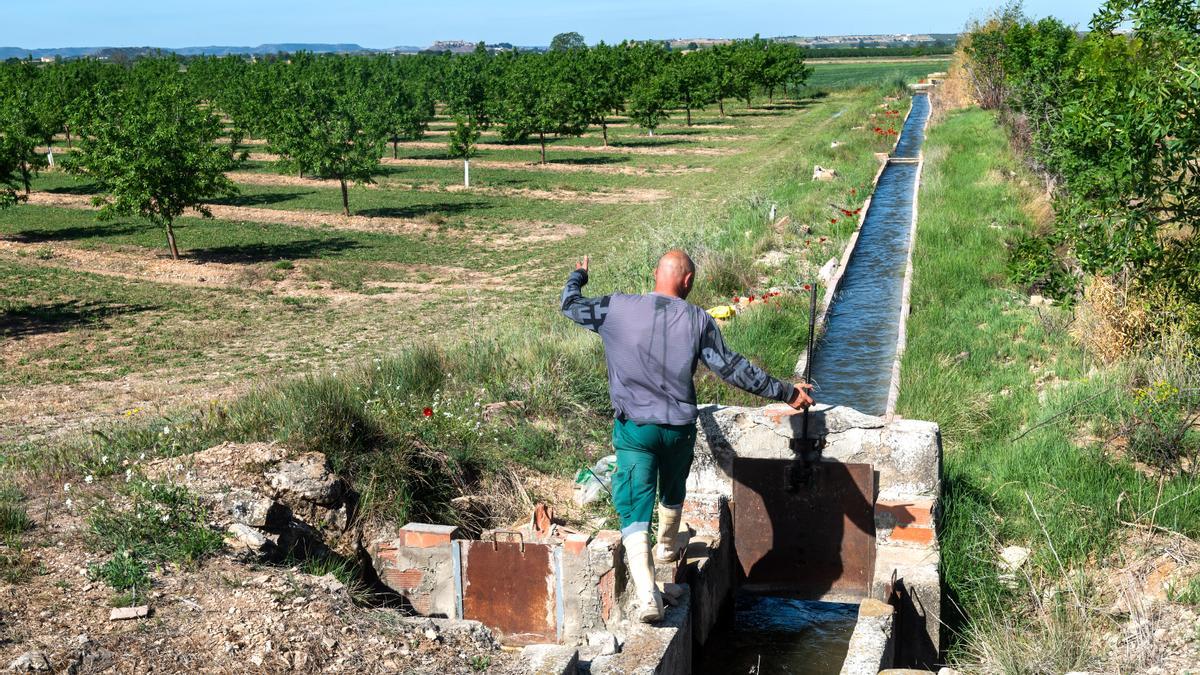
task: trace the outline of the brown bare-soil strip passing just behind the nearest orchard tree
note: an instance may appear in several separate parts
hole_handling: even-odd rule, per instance
[[[95,209],[91,197],[86,195],[59,195],[52,192],[34,192],[29,196],[30,204],[44,207],[62,207],[68,209]],[[386,234],[422,234],[438,233],[446,237],[463,237],[475,244],[493,249],[506,249],[538,241],[559,241],[568,237],[583,234],[584,228],[576,225],[550,223],[538,221],[508,221],[504,225],[514,233],[487,233],[486,235],[469,231],[445,229],[442,226],[385,216],[343,216],[326,211],[301,211],[284,209],[263,209],[257,207],[228,207],[210,204],[214,217],[246,222],[264,222],[292,225],[325,229],[326,227],[353,229],[359,232]]]

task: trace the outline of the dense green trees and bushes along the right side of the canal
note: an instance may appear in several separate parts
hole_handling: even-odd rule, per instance
[[[1063,299],[1109,276],[1152,333],[1200,338],[1200,6],[1109,0],[1090,28],[1013,4],[964,41],[976,98],[1052,190],[1055,227],[1016,243],[1012,271]]]

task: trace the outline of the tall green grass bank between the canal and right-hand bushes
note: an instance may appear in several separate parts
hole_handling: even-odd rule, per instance
[[[898,412],[942,426],[950,653],[1008,673],[1087,670],[1104,647],[1073,580],[1128,524],[1200,534],[1200,491],[1188,476],[1147,477],[1096,441],[1136,412],[1130,369],[1096,368],[1067,310],[1030,307],[1006,281],[1006,243],[1034,223],[1028,189],[995,178],[1024,174],[994,117],[953,113],[925,154]],[[1015,590],[997,569],[1009,544],[1033,550]],[[1067,604],[1031,598],[1045,587]]]

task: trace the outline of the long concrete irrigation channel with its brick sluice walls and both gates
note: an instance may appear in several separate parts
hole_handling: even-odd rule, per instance
[[[815,443],[802,437],[803,416],[779,406],[702,408],[684,506],[694,534],[678,563],[658,569],[672,605],[662,622],[625,619],[618,532],[577,533],[536,514],[479,539],[408,524],[371,544],[379,579],[416,614],[484,623],[523,650],[528,673],[701,671],[697,655],[726,639],[736,592],[851,603],[840,667],[822,671],[931,669],[942,647],[941,434],[894,414],[928,118],[918,92],[821,303]]]

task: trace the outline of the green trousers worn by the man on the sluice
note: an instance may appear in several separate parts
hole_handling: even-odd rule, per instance
[[[695,424],[637,424],[616,419],[612,447],[617,452],[612,502],[620,516],[622,537],[650,527],[655,490],[662,506],[683,506],[696,448]]]

